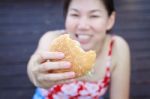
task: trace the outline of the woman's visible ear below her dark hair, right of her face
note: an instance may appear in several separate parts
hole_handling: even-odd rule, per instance
[[[116,12],[112,12],[112,14],[109,16],[109,19],[108,19],[107,30],[111,30],[112,27],[114,26],[115,17],[116,17]]]

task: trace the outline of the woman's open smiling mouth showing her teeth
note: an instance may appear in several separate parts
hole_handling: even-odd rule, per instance
[[[89,34],[77,34],[76,33],[75,37],[76,37],[77,41],[80,42],[80,44],[87,44],[92,39],[92,35],[89,35]]]

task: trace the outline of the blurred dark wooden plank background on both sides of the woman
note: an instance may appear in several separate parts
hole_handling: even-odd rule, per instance
[[[43,33],[64,28],[62,2],[0,0],[0,99],[31,99],[27,62]],[[131,48],[130,99],[150,99],[150,0],[115,0],[115,5],[113,32]]]

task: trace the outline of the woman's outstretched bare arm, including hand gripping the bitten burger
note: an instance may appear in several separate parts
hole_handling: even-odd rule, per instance
[[[56,81],[58,80],[72,77],[72,75],[68,75],[68,73],[56,74],[48,72],[53,69],[66,68],[65,62],[43,62],[49,59],[62,59],[64,57],[62,55],[63,53],[48,51],[52,40],[62,34],[62,32],[63,31],[53,31],[45,33],[40,39],[35,53],[31,56],[28,62],[28,76],[31,82],[37,87],[49,88],[53,84],[56,84]]]

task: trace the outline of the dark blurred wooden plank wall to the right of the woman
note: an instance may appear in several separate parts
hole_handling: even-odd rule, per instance
[[[150,1],[116,0],[115,32],[131,48],[131,99],[150,99]]]

